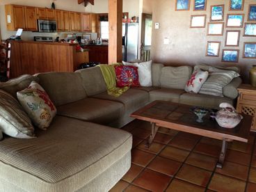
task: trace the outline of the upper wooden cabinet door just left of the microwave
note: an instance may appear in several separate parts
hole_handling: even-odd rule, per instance
[[[36,8],[25,7],[26,31],[38,31],[38,23],[36,20]]]

